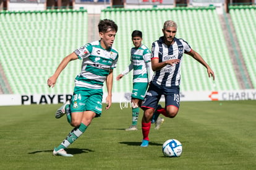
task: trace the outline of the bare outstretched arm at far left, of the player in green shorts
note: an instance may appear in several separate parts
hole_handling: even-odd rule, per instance
[[[61,74],[62,70],[65,69],[65,67],[67,66],[67,64],[69,64],[70,61],[78,59],[77,55],[75,53],[71,53],[68,56],[64,57],[64,59],[62,59],[61,63],[59,64],[58,68],[56,69],[56,71],[54,72],[54,74],[49,77],[49,79],[47,80],[47,84],[49,87],[54,87],[59,74]]]

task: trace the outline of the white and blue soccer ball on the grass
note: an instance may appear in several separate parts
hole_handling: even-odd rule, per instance
[[[182,153],[182,144],[179,140],[169,139],[164,142],[162,147],[163,155],[168,157],[178,157]]]

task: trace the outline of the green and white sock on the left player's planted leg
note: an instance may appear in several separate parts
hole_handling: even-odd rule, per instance
[[[57,150],[60,150],[61,148],[67,148],[69,147],[69,145],[73,142],[75,142],[75,140],[77,140],[77,138],[80,137],[80,135],[83,134],[83,132],[85,132],[85,130],[87,129],[87,125],[85,124],[80,124],[79,127],[75,127],[70,133],[69,135],[67,135],[66,139],[63,140],[63,142],[61,143],[61,145],[59,145],[59,147],[57,148]]]

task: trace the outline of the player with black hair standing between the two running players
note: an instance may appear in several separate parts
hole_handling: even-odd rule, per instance
[[[147,46],[142,44],[142,32],[134,30],[132,32],[132,43],[134,47],[130,49],[130,65],[119,75],[116,80],[122,79],[124,75],[128,74],[130,70],[133,72],[133,84],[132,84],[132,124],[126,130],[138,130],[137,121],[140,112],[140,106],[148,88],[148,83],[153,76],[153,70],[151,69],[151,52]],[[156,123],[156,129],[159,129],[160,124],[164,121],[159,117]]]

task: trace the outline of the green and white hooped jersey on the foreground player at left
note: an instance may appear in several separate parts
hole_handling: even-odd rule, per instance
[[[74,53],[83,60],[81,72],[75,77],[75,86],[93,89],[103,88],[109,71],[116,68],[118,59],[116,49],[104,49],[101,47],[100,41],[93,41],[75,49]]]

